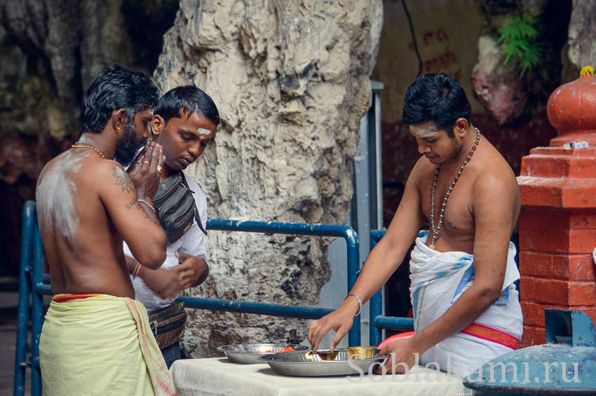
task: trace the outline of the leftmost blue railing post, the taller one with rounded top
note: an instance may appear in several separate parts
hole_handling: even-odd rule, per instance
[[[28,273],[31,271],[31,245],[35,203],[29,200],[22,210],[21,257],[19,270],[19,306],[17,319],[17,346],[15,352],[15,383],[13,395],[25,395],[25,377],[27,375],[27,326],[29,324],[29,294],[31,283]]]

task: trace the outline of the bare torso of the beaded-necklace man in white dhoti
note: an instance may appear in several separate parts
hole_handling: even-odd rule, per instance
[[[461,161],[441,165],[435,191],[435,221],[438,221],[442,200],[460,166]],[[422,212],[429,224],[431,222],[431,189],[436,169],[437,165],[422,156],[416,162],[411,175],[421,197]],[[485,137],[481,137],[478,148],[464,168],[447,200],[442,233],[435,243],[436,250],[474,254],[475,206],[479,203],[478,195],[482,194],[480,185],[487,182],[492,184],[493,188],[502,191],[499,196],[491,198],[509,200],[512,203],[510,210],[503,212],[502,216],[510,219],[508,231],[513,233],[517,217],[520,214],[520,192],[517,181],[501,153]],[[485,204],[480,203],[480,205]],[[427,242],[427,244],[430,243]]]

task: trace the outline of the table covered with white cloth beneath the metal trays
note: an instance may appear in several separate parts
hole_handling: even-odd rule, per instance
[[[170,376],[180,396],[469,395],[461,377],[416,367],[387,376],[280,376],[268,364],[236,364],[225,357],[177,360]]]

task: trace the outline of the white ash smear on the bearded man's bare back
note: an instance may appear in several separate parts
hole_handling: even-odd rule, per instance
[[[81,160],[89,153],[75,154],[72,151],[57,161],[53,168],[43,175],[37,186],[37,213],[43,224],[53,227],[67,240],[72,241],[79,226],[79,215],[74,206],[76,184],[70,179],[71,173],[79,172]]]

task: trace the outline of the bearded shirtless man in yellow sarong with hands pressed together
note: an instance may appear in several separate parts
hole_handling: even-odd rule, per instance
[[[130,171],[158,92],[148,76],[103,69],[84,100],[83,135],[42,170],[36,191],[53,298],[41,332],[44,395],[170,395],[165,362],[134,301],[122,242],[159,268],[165,233],[151,206],[164,157],[151,144]]]

